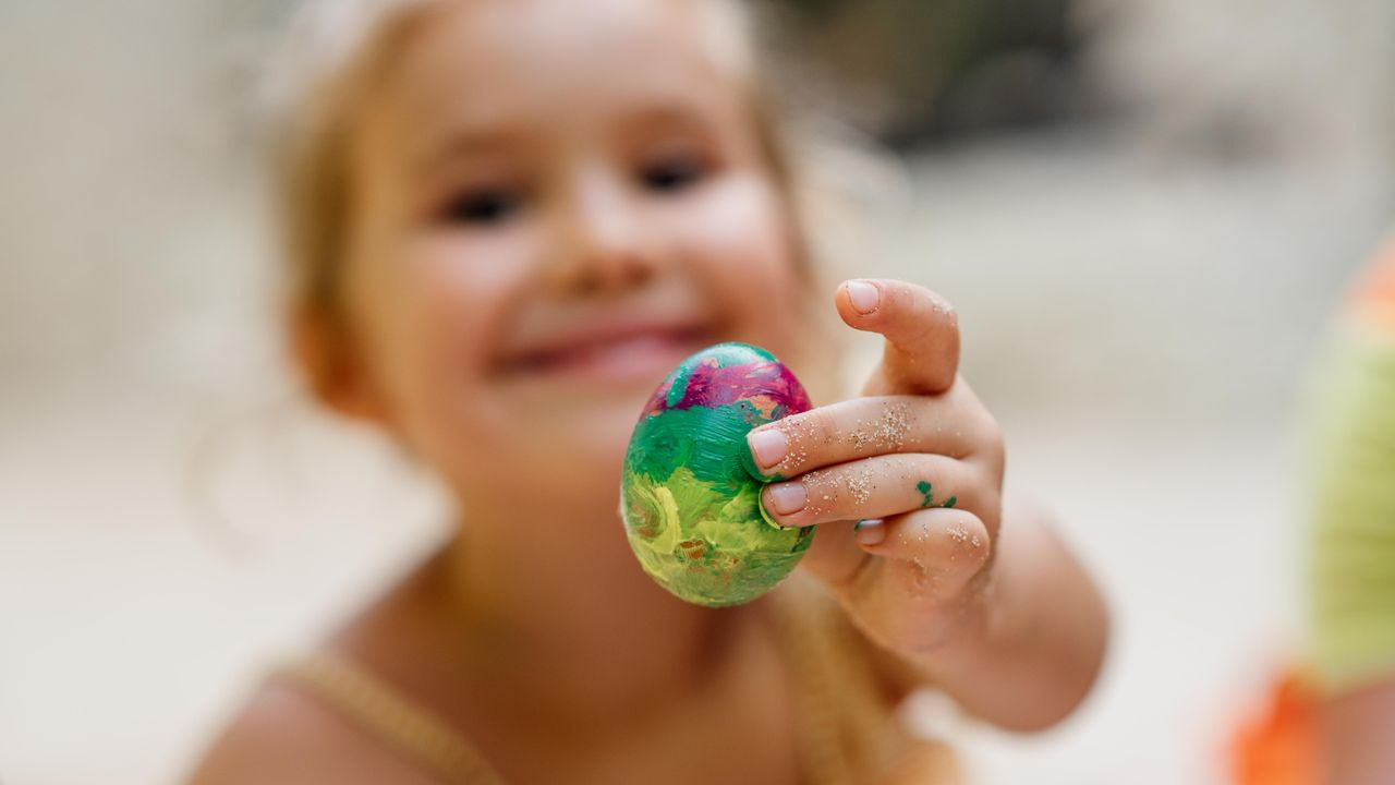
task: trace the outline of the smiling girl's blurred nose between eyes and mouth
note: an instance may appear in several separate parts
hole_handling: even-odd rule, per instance
[[[550,271],[572,293],[611,293],[647,282],[657,271],[651,230],[625,183],[591,173],[562,205],[561,247]]]

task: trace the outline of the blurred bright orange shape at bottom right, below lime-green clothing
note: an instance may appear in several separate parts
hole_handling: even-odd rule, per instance
[[[1317,785],[1318,733],[1315,690],[1297,673],[1286,675],[1262,714],[1235,735],[1236,785]]]

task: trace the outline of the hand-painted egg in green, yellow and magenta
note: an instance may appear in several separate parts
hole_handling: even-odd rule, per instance
[[[625,453],[621,517],[640,566],[698,605],[749,602],[794,570],[813,527],[760,507],[746,432],[809,409],[770,352],[718,344],[682,362],[649,398]]]

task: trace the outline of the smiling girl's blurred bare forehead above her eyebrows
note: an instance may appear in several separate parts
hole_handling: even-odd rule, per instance
[[[713,0],[445,3],[398,53],[391,101],[420,144],[460,127],[739,105],[739,28]]]

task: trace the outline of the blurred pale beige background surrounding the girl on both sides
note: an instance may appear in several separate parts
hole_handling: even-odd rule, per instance
[[[294,6],[0,4],[6,784],[176,781],[444,532],[431,485],[283,367],[251,98]],[[833,85],[809,92],[880,151],[843,267],[957,303],[1009,482],[1115,609],[1084,711],[970,726],[972,771],[1225,782],[1302,654],[1297,426],[1395,225],[1395,4],[785,6],[797,71]]]

